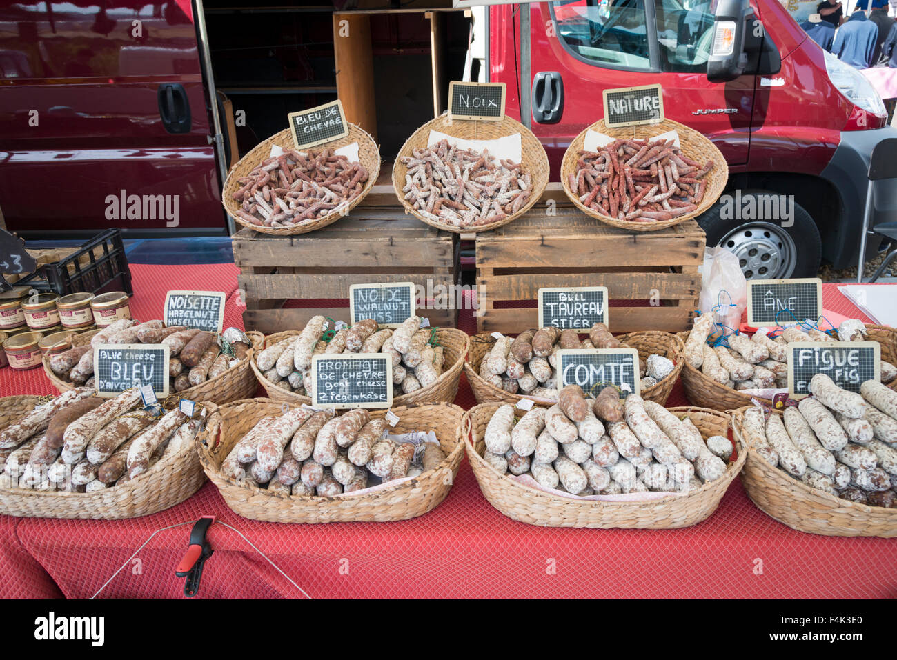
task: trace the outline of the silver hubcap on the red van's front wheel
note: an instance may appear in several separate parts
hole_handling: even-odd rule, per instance
[[[780,280],[794,273],[797,247],[787,231],[769,222],[752,222],[729,231],[719,247],[738,257],[746,280]]]

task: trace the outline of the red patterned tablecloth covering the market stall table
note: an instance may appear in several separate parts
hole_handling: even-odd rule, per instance
[[[238,323],[232,266],[132,266],[132,272],[135,316],[158,316],[165,290],[192,286],[228,291],[227,323]],[[823,295],[826,308],[862,318],[833,285]],[[462,329],[474,331],[469,313]],[[22,393],[25,382],[27,391],[51,391],[39,372],[30,374],[22,382],[9,382],[19,375],[4,378],[0,394]],[[463,380],[456,403],[475,403]],[[677,385],[668,405],[685,403]],[[0,517],[14,530],[4,536],[0,595],[15,595],[10,577],[24,579],[18,562],[28,557],[67,596],[93,595],[123,564],[101,595],[179,595],[183,580],[174,567],[187,548],[189,525],[159,532],[128,560],[157,530],[204,515],[236,527],[312,596],[897,595],[897,543],[796,532],[755,508],[738,480],[710,519],[687,529],[554,529],[502,516],[483,498],[466,461],[446,501],[398,523],[258,523],[232,513],[210,483],[177,507],[132,520]],[[199,595],[300,595],[237,533],[213,525],[209,539],[214,554]]]

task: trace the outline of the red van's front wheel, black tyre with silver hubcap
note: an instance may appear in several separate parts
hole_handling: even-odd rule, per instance
[[[745,190],[741,208],[753,197],[753,208],[762,209],[762,198],[776,195],[768,190]],[[757,198],[760,199],[757,199]],[[734,252],[747,280],[779,280],[787,277],[815,277],[823,255],[823,240],[809,213],[794,205],[794,224],[782,227],[774,219],[740,220],[740,209],[722,217],[725,202],[720,201],[698,218],[707,233],[707,245],[726,247]],[[730,204],[734,205],[731,200]],[[731,209],[727,210],[730,211]],[[732,217],[734,216],[734,217]]]

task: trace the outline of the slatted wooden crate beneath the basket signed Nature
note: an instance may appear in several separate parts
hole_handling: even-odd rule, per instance
[[[557,207],[536,208],[495,231],[476,235],[480,332],[519,333],[538,323],[540,287],[606,286],[610,329],[678,332],[698,306],[706,237],[698,223],[631,233]],[[652,300],[659,305],[650,305]],[[614,307],[614,300],[644,301]]]

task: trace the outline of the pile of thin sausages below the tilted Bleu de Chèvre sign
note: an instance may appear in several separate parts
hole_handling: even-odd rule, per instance
[[[368,170],[332,149],[302,155],[283,150],[259,163],[233,198],[241,220],[265,227],[291,227],[323,218],[361,195]]]

